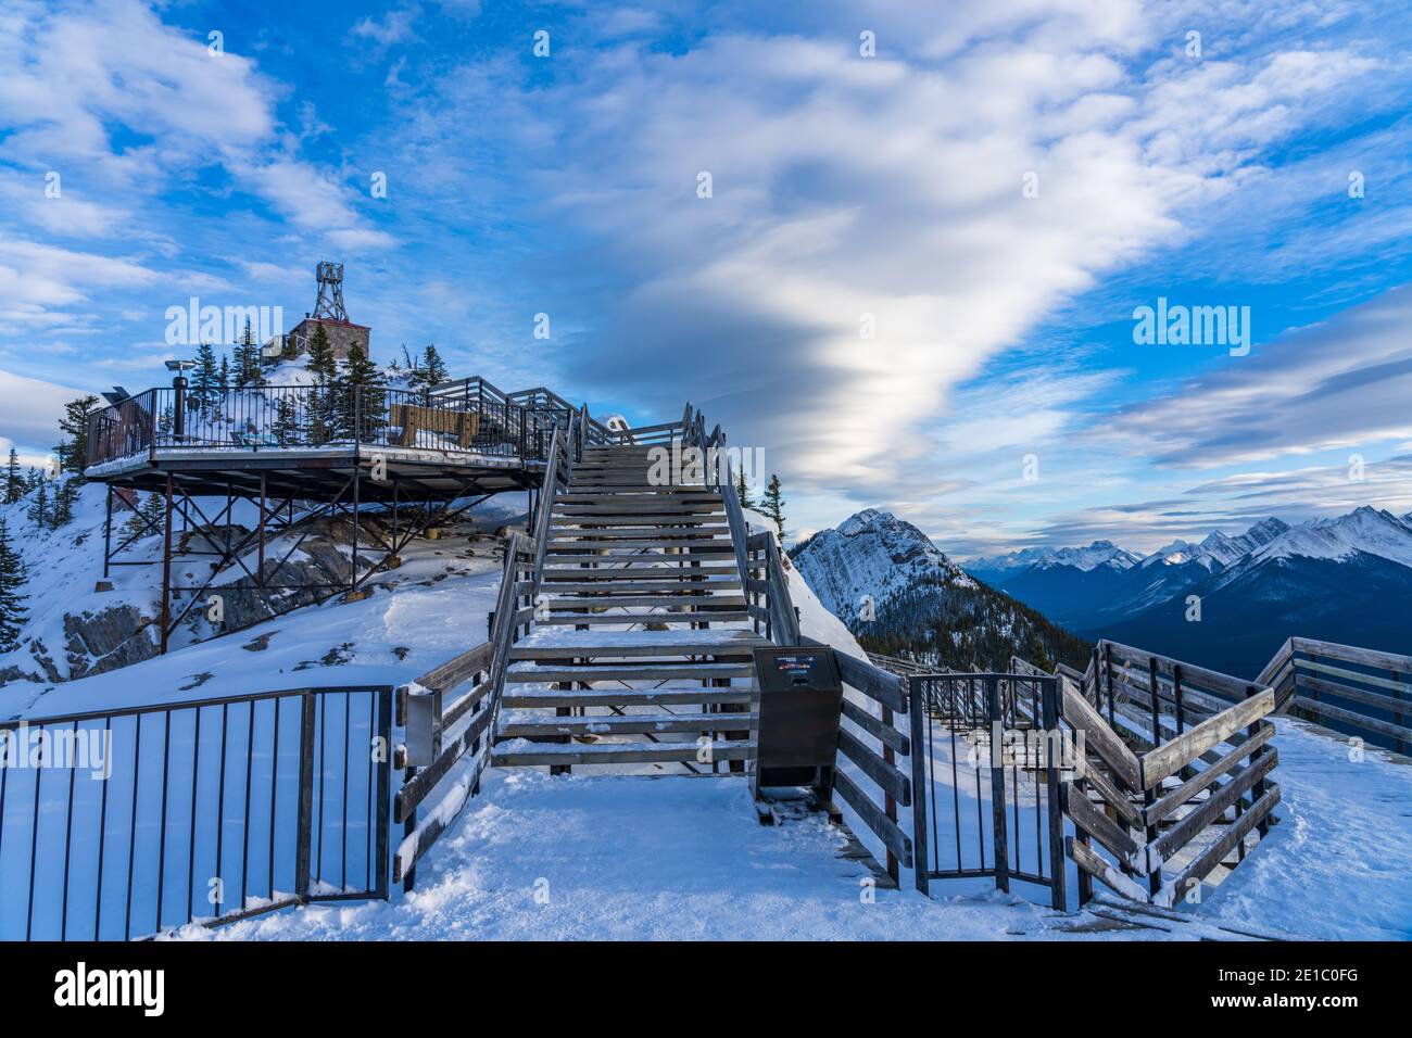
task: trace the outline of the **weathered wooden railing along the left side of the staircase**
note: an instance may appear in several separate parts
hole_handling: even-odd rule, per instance
[[[402,843],[393,859],[393,880],[411,890],[417,861],[456,819],[466,802],[480,789],[480,777],[490,761],[494,726],[510,667],[510,648],[530,630],[534,603],[544,579],[544,556],[549,544],[549,517],[554,500],[569,483],[573,463],[582,452],[583,412],[569,419],[568,429],[556,428],[549,445],[534,537],[514,532],[505,547],[505,565],[500,578],[490,640],[460,654],[398,691],[398,720],[405,727],[409,696],[432,696],[433,761],[425,768],[407,767],[397,795],[393,819],[404,825]],[[465,689],[443,706],[452,692]],[[459,727],[465,722],[463,727]],[[455,730],[455,734],[450,734]],[[477,756],[479,754],[479,756]],[[456,782],[442,794],[425,821],[418,821],[418,806],[465,758],[473,757]],[[405,767],[407,748],[398,747],[394,764]]]

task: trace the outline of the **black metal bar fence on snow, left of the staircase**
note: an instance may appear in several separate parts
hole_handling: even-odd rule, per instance
[[[391,686],[0,722],[0,939],[385,898]]]

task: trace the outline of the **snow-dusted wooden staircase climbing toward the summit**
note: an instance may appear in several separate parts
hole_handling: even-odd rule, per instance
[[[510,648],[491,764],[726,764],[758,720],[738,554],[720,491],[654,486],[650,446],[589,446],[554,500],[534,630]],[[631,770],[631,768],[628,768]]]

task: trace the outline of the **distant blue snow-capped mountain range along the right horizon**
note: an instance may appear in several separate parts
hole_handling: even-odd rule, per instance
[[[1412,652],[1412,514],[1361,507],[1139,556],[1110,541],[971,559],[966,572],[1089,638],[1254,676],[1292,634]],[[1193,599],[1199,600],[1200,620]]]

